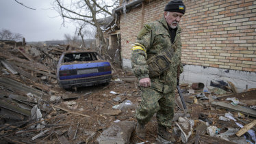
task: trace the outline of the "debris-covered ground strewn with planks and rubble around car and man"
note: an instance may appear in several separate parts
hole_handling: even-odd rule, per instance
[[[141,98],[131,72],[115,68],[108,85],[65,90],[55,66],[66,47],[0,48],[1,143],[155,143],[155,116],[146,139],[136,136]],[[170,130],[177,143],[255,143],[256,90],[237,93],[224,83],[180,85],[187,109],[177,93]]]

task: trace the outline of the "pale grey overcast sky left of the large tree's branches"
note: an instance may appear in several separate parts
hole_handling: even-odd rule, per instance
[[[21,33],[27,42],[45,40],[64,40],[64,34],[73,35],[75,26],[66,23],[62,26],[62,18],[52,10],[53,0],[0,0],[0,30],[8,29],[13,33]]]

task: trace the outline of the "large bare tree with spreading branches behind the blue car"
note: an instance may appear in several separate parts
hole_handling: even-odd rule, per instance
[[[103,29],[99,18],[113,16],[111,10],[119,4],[118,0],[73,0],[70,2],[64,0],[55,0],[55,10],[63,18],[74,20],[83,25],[92,25],[97,29],[97,38],[99,38],[100,49],[103,55],[107,54],[107,43],[103,36]]]

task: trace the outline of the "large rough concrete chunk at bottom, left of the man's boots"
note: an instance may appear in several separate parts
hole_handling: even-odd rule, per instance
[[[120,121],[112,124],[98,137],[99,144],[126,144],[129,143],[131,133],[136,127],[135,121]]]

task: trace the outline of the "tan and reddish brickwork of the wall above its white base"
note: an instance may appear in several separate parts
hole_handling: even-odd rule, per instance
[[[160,18],[168,1],[146,3],[144,23]],[[183,63],[256,72],[256,1],[183,2],[186,5],[180,23]],[[141,29],[141,15],[140,6],[120,17],[122,58],[131,57],[131,46]]]

